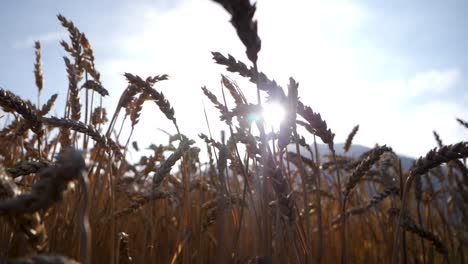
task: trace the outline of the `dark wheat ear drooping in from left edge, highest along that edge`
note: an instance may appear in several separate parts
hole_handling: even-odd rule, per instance
[[[30,101],[25,101],[14,93],[0,88],[0,106],[5,112],[20,114],[27,121],[27,127],[38,135],[42,134],[41,119],[36,107]]]

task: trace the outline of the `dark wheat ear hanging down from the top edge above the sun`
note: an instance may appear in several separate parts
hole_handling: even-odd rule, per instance
[[[257,65],[258,52],[262,42],[257,33],[257,21],[253,20],[255,15],[255,4],[251,5],[249,0],[214,0],[221,4],[231,14],[231,23],[237,31],[237,35],[246,48],[249,60]]]

